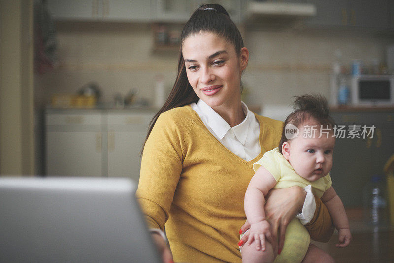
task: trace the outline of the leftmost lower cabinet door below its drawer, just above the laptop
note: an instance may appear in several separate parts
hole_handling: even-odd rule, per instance
[[[47,175],[102,176],[101,132],[48,131]]]

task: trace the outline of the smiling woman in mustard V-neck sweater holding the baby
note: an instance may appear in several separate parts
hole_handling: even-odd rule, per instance
[[[164,230],[165,223],[171,251],[160,231],[152,233],[164,262],[172,261],[171,252],[179,262],[240,262],[238,232],[248,229],[243,200],[252,165],[277,146],[283,123],[241,102],[249,53],[222,6],[200,6],[181,40],[174,87],[144,145],[137,197],[151,229]],[[276,251],[305,196],[302,188],[287,188],[268,197],[269,222],[279,232]],[[332,234],[319,199],[307,228],[315,239]]]

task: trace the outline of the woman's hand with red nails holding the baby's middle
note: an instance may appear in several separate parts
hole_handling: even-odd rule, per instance
[[[302,212],[306,192],[304,189],[294,186],[284,189],[272,189],[268,192],[267,202],[265,203],[265,216],[271,224],[272,246],[276,247],[277,234],[279,233],[278,254],[282,251],[285,242],[285,232],[287,225]]]

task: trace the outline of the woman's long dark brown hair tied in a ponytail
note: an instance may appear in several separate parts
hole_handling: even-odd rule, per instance
[[[244,47],[241,33],[230,19],[226,9],[220,4],[203,4],[191,15],[186,22],[181,33],[181,47],[178,59],[178,73],[174,86],[165,101],[163,107],[155,114],[149,124],[146,140],[161,113],[170,109],[185,106],[198,101],[198,97],[186,75],[185,61],[182,54],[182,45],[185,39],[199,32],[212,32],[224,38],[235,47],[237,55],[241,54],[241,48]],[[144,145],[145,145],[144,142]]]

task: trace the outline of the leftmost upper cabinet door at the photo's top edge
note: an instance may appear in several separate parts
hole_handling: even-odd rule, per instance
[[[54,20],[97,20],[99,0],[48,0]]]

